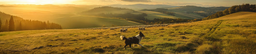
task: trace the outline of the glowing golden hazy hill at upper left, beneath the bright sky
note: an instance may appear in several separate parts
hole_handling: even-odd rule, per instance
[[[52,19],[56,19],[56,18],[73,16],[77,12],[88,11],[96,7],[100,7],[100,5],[12,4],[12,5],[0,5],[0,11],[15,15],[15,16],[19,16],[23,19],[51,21]]]

